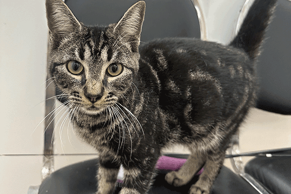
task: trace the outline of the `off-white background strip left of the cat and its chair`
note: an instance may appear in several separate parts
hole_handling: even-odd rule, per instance
[[[0,154],[42,152],[45,22],[43,0],[0,0]],[[41,160],[0,156],[0,193],[27,193]]]

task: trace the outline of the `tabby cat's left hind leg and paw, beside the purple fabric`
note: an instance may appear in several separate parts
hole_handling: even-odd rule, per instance
[[[173,171],[166,175],[165,180],[175,187],[187,184],[194,175],[201,169],[206,161],[206,156],[201,153],[192,153],[188,160],[179,169],[178,172]]]

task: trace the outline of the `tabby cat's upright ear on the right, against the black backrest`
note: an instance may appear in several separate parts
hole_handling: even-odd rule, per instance
[[[141,0],[132,5],[124,16],[119,20],[114,28],[113,33],[122,37],[122,39],[128,42],[136,43],[132,44],[139,46],[140,37],[142,32],[142,26],[145,18],[146,2]],[[137,49],[137,48],[136,48]]]

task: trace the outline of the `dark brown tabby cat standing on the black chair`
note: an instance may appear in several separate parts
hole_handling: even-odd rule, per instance
[[[74,129],[99,153],[97,194],[145,194],[161,149],[187,146],[191,155],[165,179],[181,186],[204,167],[190,194],[209,194],[230,138],[258,88],[255,63],[275,0],[255,0],[228,46],[194,38],[140,45],[146,3],[117,23],[88,27],[62,0],[46,0],[49,76],[72,111]]]

